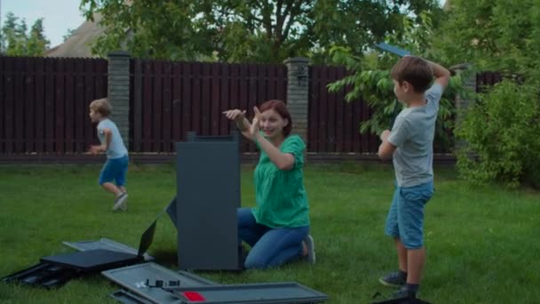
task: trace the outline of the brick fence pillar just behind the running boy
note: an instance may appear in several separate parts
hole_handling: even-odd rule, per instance
[[[108,54],[108,101],[113,106],[111,119],[118,126],[123,143],[130,149],[130,54]]]

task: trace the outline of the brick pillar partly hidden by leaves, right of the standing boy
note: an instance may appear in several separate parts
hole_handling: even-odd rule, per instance
[[[458,75],[465,76],[465,96],[457,95],[456,97],[456,128],[464,121],[467,109],[474,105],[474,96],[470,92],[476,92],[476,73],[471,72],[470,68],[467,64],[455,68]],[[458,151],[460,148],[464,148],[465,145],[465,140],[456,140],[454,148]]]

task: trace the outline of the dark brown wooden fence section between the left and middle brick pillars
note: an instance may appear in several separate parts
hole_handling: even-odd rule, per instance
[[[172,152],[188,131],[225,135],[234,127],[222,114],[261,100],[287,101],[284,65],[131,60],[130,119],[134,152]],[[242,142],[242,151],[255,151]]]

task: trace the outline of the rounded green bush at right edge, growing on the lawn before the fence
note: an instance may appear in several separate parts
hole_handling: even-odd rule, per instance
[[[539,101],[536,86],[512,80],[480,94],[457,130],[467,142],[457,163],[466,180],[540,188]]]

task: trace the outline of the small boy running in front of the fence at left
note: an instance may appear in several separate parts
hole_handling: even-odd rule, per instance
[[[125,176],[128,171],[128,150],[123,145],[122,137],[116,124],[109,119],[111,105],[107,99],[93,100],[90,104],[90,119],[98,123],[98,137],[101,145],[91,146],[91,154],[107,153],[107,162],[99,172],[99,185],[115,195],[113,211],[126,211],[128,193],[125,188]],[[116,184],[113,183],[116,182]]]

